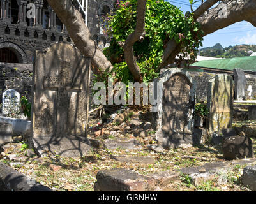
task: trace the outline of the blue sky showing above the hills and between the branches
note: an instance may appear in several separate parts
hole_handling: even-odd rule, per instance
[[[190,10],[190,3],[188,0],[165,0],[169,1],[174,6],[177,6],[184,13]],[[194,10],[199,6],[199,2],[195,3],[193,7]],[[229,45],[256,45],[256,27],[254,27],[249,22],[237,22],[236,24],[232,24],[229,27],[225,27],[216,31],[215,33],[211,33],[204,37],[204,41],[202,41],[204,47],[212,47],[216,43],[220,43],[223,47],[229,47]]]

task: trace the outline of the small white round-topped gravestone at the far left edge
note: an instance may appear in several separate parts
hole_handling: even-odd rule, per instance
[[[20,113],[20,94],[14,89],[7,89],[3,92],[2,114],[10,116]]]

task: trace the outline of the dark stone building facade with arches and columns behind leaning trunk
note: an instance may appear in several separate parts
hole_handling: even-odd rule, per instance
[[[103,16],[113,9],[114,1],[87,1],[88,28],[94,40],[105,47],[108,40],[103,34]],[[27,18],[29,3],[35,5],[35,19]],[[72,41],[46,0],[1,0],[0,10],[0,62],[32,63],[35,50],[43,50],[54,41]]]

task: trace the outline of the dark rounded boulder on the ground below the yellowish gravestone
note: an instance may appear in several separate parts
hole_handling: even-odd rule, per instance
[[[230,136],[223,142],[223,155],[226,159],[254,157],[252,140],[246,136]]]

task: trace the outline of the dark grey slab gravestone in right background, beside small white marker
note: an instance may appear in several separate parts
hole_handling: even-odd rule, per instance
[[[234,69],[234,83],[236,100],[245,99],[246,77],[243,69]]]

